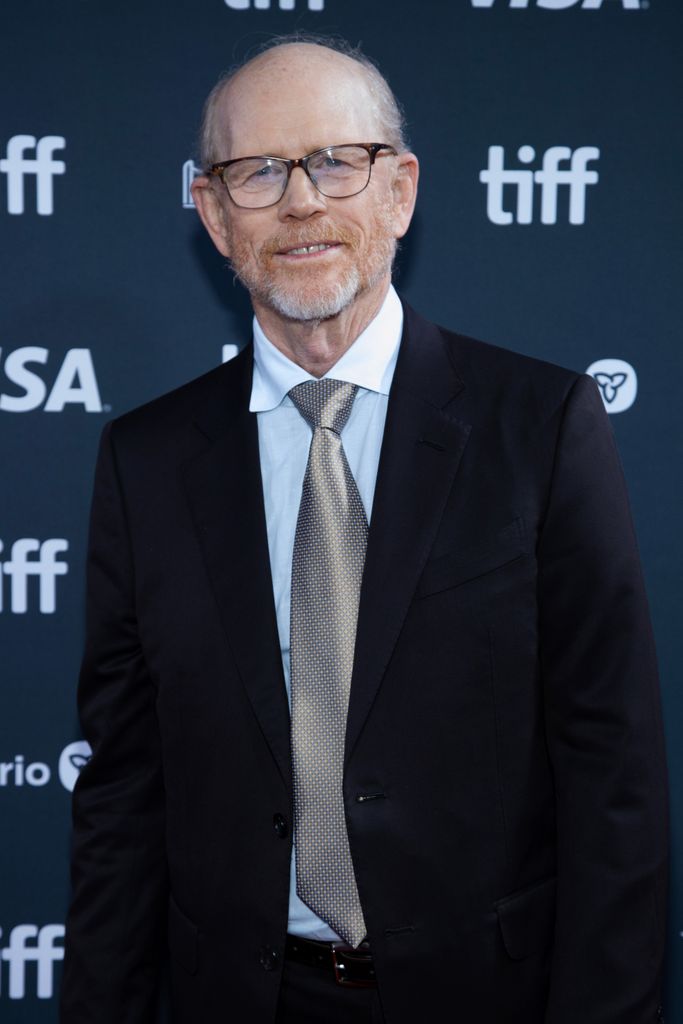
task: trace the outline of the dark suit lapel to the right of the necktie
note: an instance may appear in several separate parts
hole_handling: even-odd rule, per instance
[[[463,389],[436,327],[409,307],[384,429],[346,727],[353,751],[398,639],[467,443]]]

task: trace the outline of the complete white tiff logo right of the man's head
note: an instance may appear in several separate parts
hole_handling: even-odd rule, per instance
[[[592,160],[598,160],[600,151],[595,145],[582,145],[573,152],[567,145],[551,145],[543,155],[540,171],[510,170],[505,167],[505,150],[502,145],[488,146],[488,167],[479,173],[479,181],[486,185],[486,215],[494,224],[530,224],[533,219],[533,185],[541,185],[541,223],[557,223],[557,199],[561,185],[569,190],[569,223],[583,224],[586,220],[586,188],[598,181],[598,172],[589,170]],[[521,164],[536,160],[536,150],[522,145],[517,151]],[[564,161],[567,168],[560,168]],[[516,191],[514,213],[505,207],[505,188]]]

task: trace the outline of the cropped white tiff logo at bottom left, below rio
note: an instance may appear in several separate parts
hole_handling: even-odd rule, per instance
[[[2,929],[0,928],[0,938]],[[39,999],[51,999],[54,992],[54,964],[65,958],[63,925],[17,925],[8,936],[8,943],[0,952],[0,957],[8,965],[7,995],[10,999],[23,999],[27,989],[27,965],[36,965],[36,995]],[[0,963],[1,966],[1,963]],[[0,994],[2,994],[2,974],[0,974]]]

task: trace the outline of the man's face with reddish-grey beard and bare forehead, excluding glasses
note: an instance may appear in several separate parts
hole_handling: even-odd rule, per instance
[[[303,157],[326,145],[386,141],[361,73],[317,47],[265,54],[223,102],[222,160]],[[396,210],[400,163],[379,156],[368,187],[345,199],[321,195],[296,168],[280,203],[261,210],[236,207],[222,183],[212,184],[221,219],[214,242],[257,312],[264,306],[288,319],[319,321],[373,291],[384,293],[396,239],[408,227],[404,211]]]

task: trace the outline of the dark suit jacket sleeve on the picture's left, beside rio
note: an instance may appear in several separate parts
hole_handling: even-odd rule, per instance
[[[74,793],[60,1020],[148,1024],[166,924],[164,784],[111,425],[95,475],[86,618],[79,710],[93,756]]]

